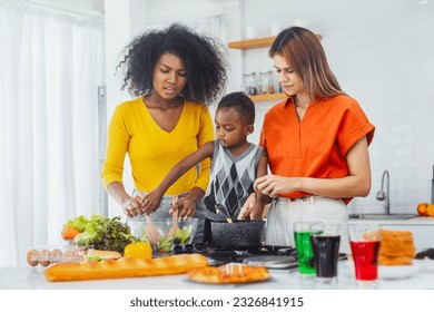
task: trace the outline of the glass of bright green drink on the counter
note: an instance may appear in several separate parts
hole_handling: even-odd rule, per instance
[[[320,223],[294,223],[294,241],[297,248],[298,271],[302,279],[315,276],[314,251],[312,248],[310,234],[320,231],[319,225]]]

